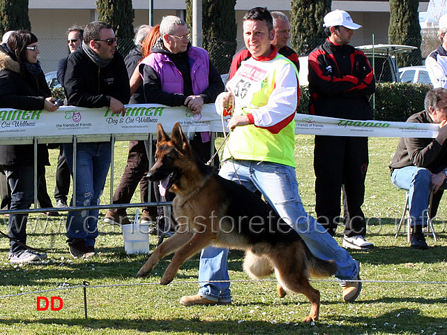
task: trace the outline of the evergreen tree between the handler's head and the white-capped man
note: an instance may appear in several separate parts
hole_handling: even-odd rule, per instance
[[[331,0],[291,0],[290,45],[299,56],[307,56],[324,43],[323,17],[331,11]]]

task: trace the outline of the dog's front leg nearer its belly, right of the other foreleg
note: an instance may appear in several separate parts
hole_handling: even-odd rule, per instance
[[[180,248],[172,258],[171,264],[167,267],[165,274],[163,274],[160,284],[167,285],[172,282],[181,265],[193,255],[201,251],[206,246],[209,246],[213,241],[213,234],[196,233],[190,241]]]

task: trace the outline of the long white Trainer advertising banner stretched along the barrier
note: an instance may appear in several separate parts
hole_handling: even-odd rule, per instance
[[[228,119],[229,117],[226,117]],[[437,124],[411,124],[391,121],[358,121],[296,114],[296,134],[358,137],[436,137]],[[200,114],[187,107],[142,104],[126,105],[126,115],[108,108],[63,106],[55,112],[45,110],[0,110],[0,140],[11,137],[58,135],[103,135],[156,133],[161,123],[165,131],[179,122],[183,131],[222,132],[222,120],[213,104],[202,106]]]

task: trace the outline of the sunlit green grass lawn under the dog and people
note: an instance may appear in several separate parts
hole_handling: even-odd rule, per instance
[[[0,239],[0,334],[447,334],[447,200],[442,200],[434,227],[439,241],[427,237],[430,249],[411,250],[406,234],[394,239],[404,206],[404,191],[391,184],[388,163],[397,138],[370,138],[370,165],[363,209],[368,217],[368,239],[375,248],[350,251],[361,262],[363,290],[357,301],[342,302],[341,289],[332,278],[314,281],[321,292],[320,319],[303,324],[310,304],[303,295],[280,299],[275,281],[248,281],[242,271],[243,253],[229,255],[232,306],[179,304],[182,295],[197,292],[199,258],[181,267],[174,283],[158,285],[167,258],[148,278],[136,278],[147,255],[126,255],[119,227],[100,222],[96,242],[98,256],[90,260],[70,257],[66,245],[65,218],[47,220],[31,214],[28,244],[47,251],[48,259],[28,265],[8,263],[8,240]],[[126,164],[127,142],[116,143],[114,184]],[[54,190],[58,150],[50,150],[47,169],[50,195]],[[315,214],[315,175],[312,168],[313,136],[296,136],[297,178],[305,208]],[[103,202],[110,198],[109,181]],[[139,202],[139,194],[133,202]],[[128,214],[135,214],[129,209]],[[101,211],[100,217],[104,216]],[[0,230],[6,232],[6,220]],[[336,235],[341,244],[342,229]],[[151,237],[151,251],[156,240]],[[271,277],[270,279],[273,279]],[[84,317],[86,289],[88,318]],[[190,283],[185,283],[185,282]],[[439,283],[388,283],[418,281]],[[147,284],[147,285],[138,285]],[[52,290],[50,292],[35,292]],[[29,295],[20,295],[32,292]],[[37,311],[37,297],[63,299],[60,311]],[[59,306],[59,303],[56,303]]]

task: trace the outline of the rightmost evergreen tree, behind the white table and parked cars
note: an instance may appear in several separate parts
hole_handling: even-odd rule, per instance
[[[411,54],[398,57],[399,66],[422,64],[422,36],[418,6],[418,0],[390,0],[389,43],[418,47]]]

